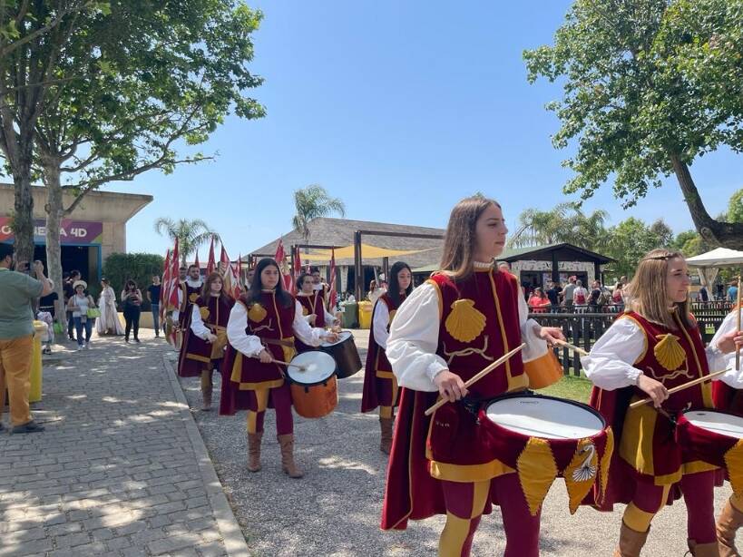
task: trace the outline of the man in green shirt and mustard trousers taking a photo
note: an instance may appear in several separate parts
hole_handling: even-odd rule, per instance
[[[0,430],[3,425],[5,389],[10,406],[13,434],[44,431],[36,424],[28,404],[31,389],[31,360],[34,346],[35,298],[47,296],[52,284],[44,277],[44,264],[34,262],[30,276],[10,270],[13,267],[13,246],[0,244]]]

